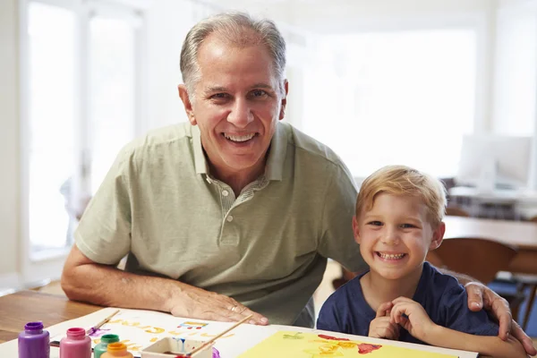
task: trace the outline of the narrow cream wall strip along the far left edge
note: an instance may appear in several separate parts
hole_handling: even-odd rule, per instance
[[[0,288],[18,276],[18,24],[18,1],[0,1]]]

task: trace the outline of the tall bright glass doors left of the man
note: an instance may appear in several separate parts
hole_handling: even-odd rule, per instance
[[[21,107],[28,268],[66,253],[90,195],[118,150],[142,130],[145,51],[143,13],[127,1],[26,4]]]

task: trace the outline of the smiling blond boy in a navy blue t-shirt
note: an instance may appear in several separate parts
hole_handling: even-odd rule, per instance
[[[407,166],[386,166],[363,183],[354,237],[370,271],[332,294],[317,328],[461,349],[493,357],[526,357],[514,338],[502,341],[485,311],[470,311],[465,289],[425,261],[442,243],[442,183]]]

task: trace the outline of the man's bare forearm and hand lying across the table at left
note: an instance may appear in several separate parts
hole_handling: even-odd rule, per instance
[[[267,318],[233,298],[173,279],[134,275],[98,264],[76,245],[65,261],[62,288],[71,300],[103,306],[166,311],[198,320],[238,321],[253,314],[251,324],[268,324]]]

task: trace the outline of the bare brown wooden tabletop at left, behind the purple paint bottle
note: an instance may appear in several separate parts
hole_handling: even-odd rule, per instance
[[[24,325],[42,320],[45,327],[85,316],[102,307],[69,301],[67,297],[21,291],[0,297],[0,343],[15,339]]]

